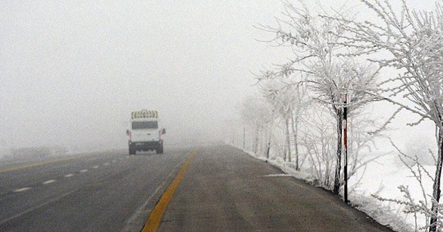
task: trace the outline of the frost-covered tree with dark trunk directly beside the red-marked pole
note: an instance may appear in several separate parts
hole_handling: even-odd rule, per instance
[[[278,26],[260,25],[262,30],[272,32],[275,37],[270,42],[279,46],[289,46],[293,50],[293,59],[274,70],[265,70],[259,75],[264,79],[287,78],[296,75],[296,81],[304,83],[313,93],[312,97],[329,108],[336,120],[336,167],[334,193],[338,194],[341,184],[343,109],[348,115],[361,108],[373,97],[368,90],[374,87],[377,70],[363,66],[350,58],[338,57],[343,49],[338,39],[345,32],[338,21],[311,14],[299,1],[301,8],[285,2],[282,19],[277,19]],[[302,77],[302,78],[298,78]],[[345,104],[346,96],[347,103]]]

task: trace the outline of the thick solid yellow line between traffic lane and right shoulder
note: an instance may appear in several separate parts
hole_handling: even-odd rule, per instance
[[[192,153],[189,155],[188,159],[186,159],[183,166],[181,166],[179,174],[177,174],[177,177],[175,177],[170,186],[168,186],[168,189],[166,189],[165,193],[163,193],[163,195],[161,196],[159,203],[157,203],[156,206],[154,207],[154,210],[151,212],[150,218],[147,219],[147,222],[145,226],[143,226],[141,232],[157,231],[157,229],[160,226],[161,218],[163,218],[163,214],[165,213],[166,208],[168,207],[168,204],[172,199],[172,195],[174,195],[175,190],[179,186],[181,180],[183,180],[183,177],[185,176],[185,173],[188,170],[188,167],[190,166],[192,157],[194,157],[196,154],[197,150],[192,151]]]

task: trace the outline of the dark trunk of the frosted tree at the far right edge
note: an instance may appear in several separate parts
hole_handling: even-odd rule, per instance
[[[442,164],[443,164],[443,126],[438,128],[438,156],[437,156],[437,169],[435,170],[435,178],[434,178],[434,184],[433,184],[433,199],[435,201],[432,202],[432,208],[431,211],[433,212],[433,215],[431,216],[430,220],[430,227],[429,232],[435,232],[437,231],[437,215],[438,215],[438,202],[440,202],[440,180],[442,177]]]

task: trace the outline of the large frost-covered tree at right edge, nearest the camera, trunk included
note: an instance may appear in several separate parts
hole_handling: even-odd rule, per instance
[[[372,55],[376,58],[371,60],[381,67],[399,70],[399,75],[388,77],[373,95],[421,116],[411,126],[425,119],[434,122],[438,152],[431,206],[434,215],[429,231],[436,231],[441,229],[440,225],[437,227],[437,215],[443,163],[443,8],[437,4],[433,12],[416,12],[402,0],[401,10],[397,12],[388,0],[361,2],[377,14],[382,23],[338,17],[325,19],[335,18],[342,22],[341,28],[347,33],[334,32],[334,35],[341,38],[340,46],[355,48],[351,55]],[[384,58],[377,58],[374,53]],[[396,100],[398,97],[406,99],[407,103],[401,104]]]

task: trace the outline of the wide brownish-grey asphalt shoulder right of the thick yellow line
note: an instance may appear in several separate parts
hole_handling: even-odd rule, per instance
[[[199,149],[159,231],[391,231],[331,193],[230,146]]]

